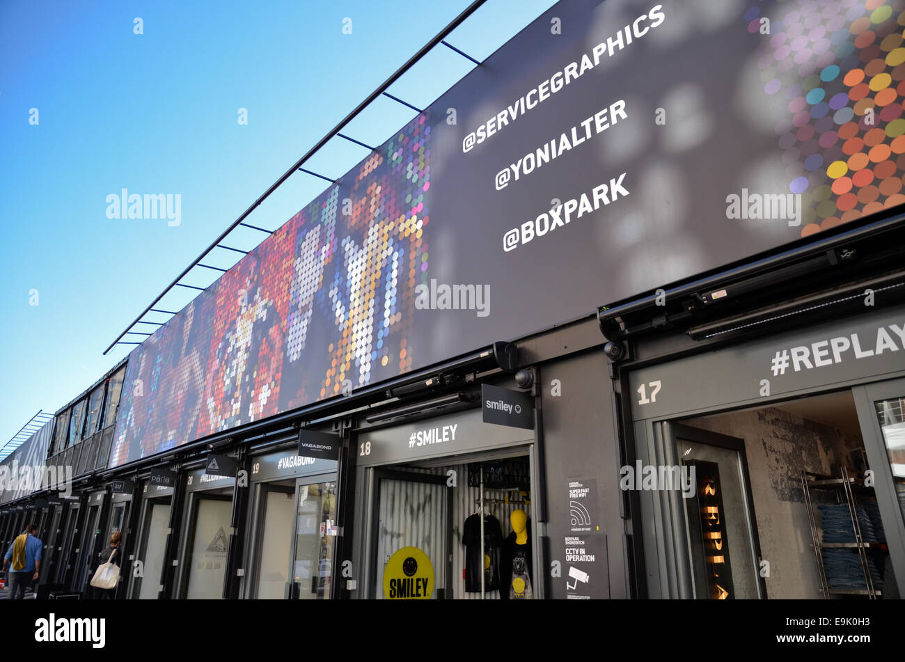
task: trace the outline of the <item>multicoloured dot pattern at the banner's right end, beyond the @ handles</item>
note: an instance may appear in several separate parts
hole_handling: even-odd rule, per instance
[[[787,0],[748,9],[770,20],[758,50],[778,108],[789,191],[808,236],[905,203],[905,7],[901,0]]]

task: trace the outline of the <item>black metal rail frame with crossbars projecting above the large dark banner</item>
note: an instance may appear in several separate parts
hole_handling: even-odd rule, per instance
[[[360,145],[360,146],[362,146],[362,147],[366,147],[367,149],[373,151],[373,150],[374,150],[373,147],[370,147],[370,146],[368,146],[368,145],[365,145],[365,143],[362,143],[362,142],[356,140],[355,138],[351,138],[351,137],[345,136],[345,135],[343,135],[343,134],[341,134],[341,133],[339,133],[339,132],[340,132],[340,131],[341,131],[341,130],[342,130],[342,129],[350,122],[350,121],[352,121],[352,119],[356,118],[357,115],[358,115],[362,110],[366,109],[367,106],[369,106],[369,105],[371,104],[371,102],[374,101],[374,99],[376,99],[376,98],[379,97],[380,95],[384,95],[384,96],[388,97],[389,99],[393,99],[393,100],[395,100],[395,101],[398,101],[399,103],[403,104],[404,106],[407,106],[407,107],[410,108],[410,109],[416,110],[416,111],[419,112],[419,113],[420,113],[420,112],[423,112],[422,110],[415,108],[412,104],[406,103],[406,102],[403,101],[402,99],[397,99],[397,98],[394,97],[392,94],[388,94],[388,93],[386,92],[386,89],[389,88],[390,85],[392,85],[396,80],[398,80],[398,79],[399,79],[406,71],[408,71],[409,69],[411,69],[411,68],[414,66],[414,64],[416,64],[419,60],[421,60],[421,59],[424,57],[424,55],[426,55],[428,52],[430,52],[430,51],[433,49],[434,46],[436,46],[438,43],[442,43],[444,46],[446,46],[447,48],[451,49],[453,52],[457,52],[457,53],[459,53],[460,55],[462,55],[462,57],[467,58],[468,60],[471,60],[472,62],[475,62],[477,65],[480,65],[480,64],[481,64],[480,61],[475,60],[475,59],[472,58],[470,55],[468,55],[468,54],[466,54],[466,53],[460,51],[460,50],[457,49],[456,47],[452,46],[452,44],[447,43],[447,42],[444,41],[444,40],[445,40],[446,36],[449,35],[449,33],[452,33],[452,31],[453,31],[455,28],[457,28],[460,24],[462,24],[462,23],[465,21],[465,19],[467,19],[469,16],[471,16],[472,14],[474,14],[474,12],[477,11],[477,9],[480,8],[481,5],[483,5],[485,2],[486,2],[486,0],[475,0],[474,2],[472,2],[471,5],[468,5],[468,7],[465,8],[465,10],[462,12],[462,14],[459,14],[458,16],[456,16],[456,17],[452,20],[452,22],[451,22],[450,24],[446,25],[446,27],[444,27],[443,30],[442,30],[440,33],[438,33],[436,36],[434,36],[433,39],[432,39],[430,42],[425,43],[424,46],[422,46],[421,50],[419,50],[419,51],[416,52],[411,58],[409,58],[409,60],[406,61],[405,64],[403,64],[399,69],[397,69],[397,70],[395,71],[395,73],[393,73],[389,78],[387,78],[387,79],[386,79],[386,80],[385,80],[385,81],[384,81],[384,82],[383,82],[376,90],[374,90],[373,92],[371,92],[371,93],[367,96],[367,99],[365,99],[365,100],[363,100],[361,103],[359,103],[358,106],[356,107],[356,109],[354,109],[352,112],[350,112],[350,113],[346,116],[346,118],[344,118],[341,122],[339,122],[339,124],[338,124],[336,127],[332,128],[326,136],[322,137],[322,138],[318,141],[317,145],[315,145],[314,147],[311,147],[310,150],[305,154],[305,156],[302,156],[302,157],[301,157],[298,161],[296,161],[295,164],[292,165],[291,168],[290,168],[289,170],[287,170],[287,171],[286,171],[286,172],[285,172],[285,173],[284,173],[284,174],[283,174],[276,182],[274,182],[273,184],[271,184],[270,188],[268,188],[267,191],[265,191],[264,194],[263,194],[261,197],[259,197],[257,200],[255,200],[254,203],[252,203],[252,206],[250,206],[248,209],[246,209],[246,210],[242,213],[242,215],[239,216],[239,218],[237,218],[237,219],[236,219],[236,220],[235,220],[235,221],[234,221],[234,222],[233,222],[233,223],[232,223],[232,224],[231,224],[231,225],[230,225],[230,226],[229,226],[229,227],[228,227],[228,228],[227,228],[220,236],[219,236],[219,237],[217,237],[217,238],[214,240],[214,242],[213,242],[210,246],[208,246],[208,247],[205,249],[205,251],[203,251],[197,258],[195,258],[195,260],[193,260],[192,263],[191,263],[188,267],[186,267],[186,269],[183,270],[183,272],[182,272],[181,274],[179,274],[179,275],[176,277],[176,279],[173,280],[172,283],[170,283],[170,284],[167,286],[167,288],[165,288],[162,292],[160,292],[160,294],[157,295],[157,298],[155,298],[155,299],[150,303],[150,305],[149,305],[148,307],[146,307],[146,308],[144,309],[144,311],[143,311],[138,317],[136,317],[136,318],[132,321],[132,323],[129,324],[129,326],[127,326],[127,327],[123,330],[122,333],[119,334],[119,336],[117,336],[116,340],[114,340],[112,343],[110,343],[110,346],[107,347],[107,349],[104,350],[103,354],[106,355],[106,354],[107,354],[108,352],[110,352],[110,350],[113,349],[113,347],[115,347],[116,345],[140,345],[141,343],[138,343],[138,342],[130,342],[130,341],[123,341],[123,339],[122,339],[124,336],[127,336],[127,335],[129,335],[129,334],[139,335],[139,333],[140,333],[140,335],[145,335],[143,332],[138,332],[138,333],[137,333],[137,332],[133,332],[133,331],[132,331],[132,328],[133,328],[134,326],[136,326],[137,324],[152,324],[152,325],[157,325],[157,326],[162,326],[163,324],[165,324],[164,322],[150,322],[150,321],[145,321],[145,320],[143,320],[142,317],[145,317],[149,312],[168,313],[168,314],[171,314],[171,315],[176,315],[176,313],[173,313],[172,311],[168,311],[168,310],[159,310],[159,309],[157,309],[157,308],[154,307],[155,305],[157,305],[157,302],[158,302],[161,298],[164,298],[164,296],[166,296],[167,293],[168,293],[171,289],[175,288],[176,286],[179,286],[179,287],[182,287],[182,288],[199,289],[199,290],[204,291],[204,288],[198,288],[198,287],[196,287],[196,286],[194,286],[194,285],[186,285],[186,284],[183,284],[183,283],[180,283],[180,282],[179,282],[180,280],[182,280],[183,278],[186,277],[186,274],[188,274],[189,271],[195,269],[195,267],[206,267],[207,269],[219,270],[219,271],[224,271],[224,272],[225,272],[226,270],[220,269],[219,267],[212,267],[212,266],[210,266],[210,265],[201,264],[201,260],[204,260],[204,259],[205,259],[205,256],[206,256],[209,252],[213,251],[215,248],[222,248],[222,249],[225,249],[225,250],[227,250],[227,251],[236,251],[236,252],[240,252],[240,253],[247,254],[249,251],[242,251],[242,250],[240,250],[240,249],[232,248],[232,247],[229,247],[229,246],[224,246],[223,244],[221,244],[221,241],[224,241],[224,239],[226,238],[226,236],[227,236],[230,232],[233,232],[233,230],[235,230],[237,227],[239,227],[240,225],[242,225],[243,227],[252,228],[252,230],[259,230],[259,231],[261,231],[261,232],[267,232],[268,234],[272,234],[272,233],[274,232],[274,231],[272,231],[272,230],[265,230],[264,228],[260,228],[260,227],[257,227],[257,226],[255,226],[255,225],[250,225],[249,223],[246,223],[246,222],[244,222],[244,221],[245,221],[246,218],[248,218],[248,216],[249,216],[249,215],[250,215],[250,214],[251,214],[251,213],[252,213],[252,212],[253,212],[253,211],[254,211],[254,210],[262,203],[262,202],[264,202],[264,200],[266,200],[266,199],[270,196],[270,194],[272,194],[274,191],[276,191],[276,189],[279,188],[279,187],[281,186],[281,184],[283,184],[287,179],[289,179],[293,173],[295,173],[295,172],[303,172],[303,173],[305,173],[305,174],[307,174],[307,175],[313,175],[313,176],[316,176],[316,177],[320,177],[321,179],[327,180],[327,181],[330,182],[331,184],[334,183],[334,182],[336,181],[335,179],[330,179],[329,177],[325,177],[324,175],[319,175],[318,173],[312,172],[312,171],[310,171],[310,170],[307,170],[307,169],[301,167],[303,164],[305,164],[305,162],[307,162],[307,161],[310,159],[311,156],[314,156],[314,155],[319,151],[319,149],[320,149],[321,147],[324,147],[324,146],[329,142],[329,140],[330,140],[331,138],[336,137],[336,136],[343,137],[343,138],[346,138],[346,139],[347,139],[348,141],[350,141],[350,142],[356,143],[357,145]]]

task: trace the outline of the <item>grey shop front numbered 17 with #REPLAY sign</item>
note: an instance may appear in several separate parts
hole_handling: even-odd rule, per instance
[[[898,598],[905,307],[624,377],[652,598]]]

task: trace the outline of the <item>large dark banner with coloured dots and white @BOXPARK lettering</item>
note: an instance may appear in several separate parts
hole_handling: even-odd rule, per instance
[[[110,467],[905,203],[905,0],[571,0],[129,358]]]

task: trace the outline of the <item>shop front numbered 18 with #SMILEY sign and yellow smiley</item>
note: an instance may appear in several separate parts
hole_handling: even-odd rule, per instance
[[[481,407],[357,430],[353,597],[544,597],[534,412],[510,393],[523,427]]]

